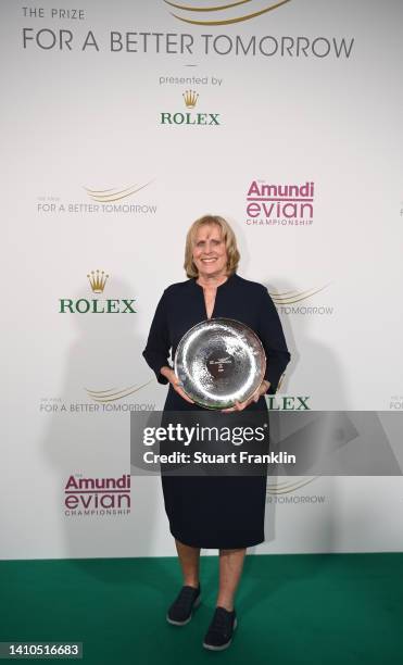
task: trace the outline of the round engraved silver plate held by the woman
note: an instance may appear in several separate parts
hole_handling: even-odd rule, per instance
[[[251,328],[232,318],[210,318],[181,338],[175,374],[188,397],[205,409],[244,402],[261,385],[266,356]]]

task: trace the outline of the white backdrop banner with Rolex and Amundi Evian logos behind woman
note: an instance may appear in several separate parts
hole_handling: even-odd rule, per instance
[[[1,556],[172,555],[130,413],[164,404],[141,353],[196,218],[228,219],[239,274],[278,309],[292,361],[270,410],[403,411],[403,4],[0,12]],[[269,478],[252,551],[401,550],[402,493],[399,476]]]

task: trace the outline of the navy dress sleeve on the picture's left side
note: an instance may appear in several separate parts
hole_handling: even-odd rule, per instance
[[[168,379],[160,373],[165,365],[171,367],[168,362],[171,341],[167,325],[166,289],[156,305],[154,318],[152,319],[146,349],[142,352],[147,364],[155,373],[159,384],[167,384]]]

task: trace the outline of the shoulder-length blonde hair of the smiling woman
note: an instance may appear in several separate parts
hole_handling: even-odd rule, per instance
[[[240,253],[238,251],[237,238],[235,237],[235,233],[232,231],[228,222],[224,219],[224,217],[219,217],[218,215],[204,215],[203,217],[200,217],[199,219],[193,222],[186,236],[184,268],[188,277],[199,276],[199,271],[193,263],[193,246],[196,235],[201,226],[209,226],[211,224],[215,224],[221,228],[222,237],[227,249],[228,275],[232,275],[237,272]]]

